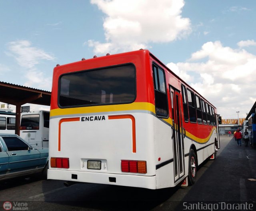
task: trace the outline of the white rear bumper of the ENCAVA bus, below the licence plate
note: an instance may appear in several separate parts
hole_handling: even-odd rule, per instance
[[[156,175],[140,176],[128,174],[48,169],[47,179],[156,189]]]

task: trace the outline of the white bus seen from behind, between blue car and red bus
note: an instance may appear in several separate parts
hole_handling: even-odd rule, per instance
[[[49,147],[50,111],[30,111],[21,115],[20,137],[34,148]]]

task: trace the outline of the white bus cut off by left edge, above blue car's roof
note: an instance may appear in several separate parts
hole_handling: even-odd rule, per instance
[[[0,133],[15,133],[15,113],[0,111]]]

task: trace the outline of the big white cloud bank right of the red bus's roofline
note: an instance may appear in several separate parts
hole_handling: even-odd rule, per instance
[[[244,49],[225,47],[220,41],[207,42],[191,54],[188,62],[168,65],[212,102],[224,118],[236,118],[236,111],[246,117],[256,101],[252,88],[256,84],[256,55]]]

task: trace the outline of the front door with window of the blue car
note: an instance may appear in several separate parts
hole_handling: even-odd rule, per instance
[[[15,173],[28,171],[40,166],[40,152],[30,149],[29,145],[18,136],[2,136],[9,155],[9,171]]]

